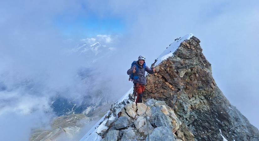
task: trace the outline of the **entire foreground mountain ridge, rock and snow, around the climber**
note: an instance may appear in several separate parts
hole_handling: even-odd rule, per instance
[[[216,85],[199,43],[192,34],[175,39],[146,75],[143,103],[129,100],[132,87],[81,141],[259,141]]]

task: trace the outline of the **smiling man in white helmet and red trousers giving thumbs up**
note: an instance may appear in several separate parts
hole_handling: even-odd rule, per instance
[[[131,64],[131,68],[127,71],[127,74],[130,75],[130,79],[133,80],[134,83],[134,96],[137,92],[137,103],[142,103],[143,91],[145,89],[146,77],[145,71],[149,74],[154,74],[155,69],[149,69],[145,63],[146,58],[143,55],[138,57],[138,61],[133,61]],[[129,80],[130,80],[129,79]]]

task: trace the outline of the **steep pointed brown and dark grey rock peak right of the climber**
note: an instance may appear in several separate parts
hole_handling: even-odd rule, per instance
[[[183,134],[182,140],[259,141],[258,129],[216,85],[199,43],[193,36],[157,65],[154,75],[146,77],[143,98],[165,101],[175,111],[183,123],[175,134]]]

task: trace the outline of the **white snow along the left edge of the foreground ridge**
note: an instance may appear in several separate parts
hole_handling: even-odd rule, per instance
[[[158,65],[160,62],[162,62],[163,60],[166,60],[168,57],[173,56],[173,53],[175,52],[175,50],[179,47],[179,45],[181,44],[181,42],[183,42],[186,39],[190,39],[193,36],[192,33],[187,34],[183,37],[177,38],[175,39],[175,41],[169,45],[169,47],[166,48],[166,50],[164,50],[162,52],[161,55],[159,55],[159,57],[157,58],[157,62],[155,63],[155,65]],[[127,91],[116,103],[120,103],[122,102],[124,99],[128,99],[128,95],[129,93],[133,93],[133,87]],[[113,120],[115,117],[111,116],[108,119],[105,119],[105,116],[108,115],[108,113],[110,112],[110,110],[108,112],[106,112],[106,114],[84,135],[83,138],[80,139],[80,141],[100,141],[102,138],[97,134],[100,133],[101,130],[106,129],[107,127],[105,126],[105,123],[108,120]],[[103,122],[102,122],[103,121]],[[102,123],[101,123],[102,122]],[[99,123],[101,123],[99,125]]]

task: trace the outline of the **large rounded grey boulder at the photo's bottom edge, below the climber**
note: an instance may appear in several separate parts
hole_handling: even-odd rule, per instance
[[[167,127],[157,127],[155,128],[152,133],[149,135],[149,137],[147,136],[146,140],[148,141],[174,141],[175,140],[175,136],[173,135],[173,133],[171,132],[171,130]]]

